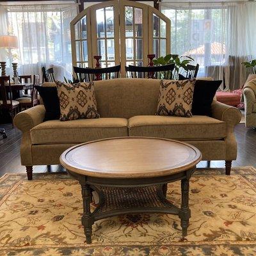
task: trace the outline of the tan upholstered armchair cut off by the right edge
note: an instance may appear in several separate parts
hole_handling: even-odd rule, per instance
[[[256,128],[256,79],[244,84],[245,126]]]

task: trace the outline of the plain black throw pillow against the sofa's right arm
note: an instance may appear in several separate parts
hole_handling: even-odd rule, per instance
[[[196,80],[192,102],[192,115],[211,116],[211,104],[221,80]]]

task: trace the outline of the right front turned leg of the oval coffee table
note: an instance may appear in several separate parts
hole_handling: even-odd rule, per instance
[[[190,209],[188,204],[189,198],[189,180],[181,180],[181,207],[179,212],[180,226],[182,227],[182,236],[187,236]]]

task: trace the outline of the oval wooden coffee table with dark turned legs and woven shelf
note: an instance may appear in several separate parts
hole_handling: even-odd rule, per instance
[[[147,137],[110,138],[68,148],[60,162],[82,187],[86,243],[92,243],[94,221],[128,213],[178,215],[186,236],[189,179],[201,158],[201,152],[189,144]],[[166,200],[167,183],[176,180],[181,180],[180,208]],[[92,190],[99,194],[93,212]]]

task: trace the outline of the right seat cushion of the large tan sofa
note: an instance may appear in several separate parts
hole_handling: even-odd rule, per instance
[[[209,116],[133,116],[128,120],[129,136],[161,137],[173,140],[220,140],[227,136],[225,122]]]

